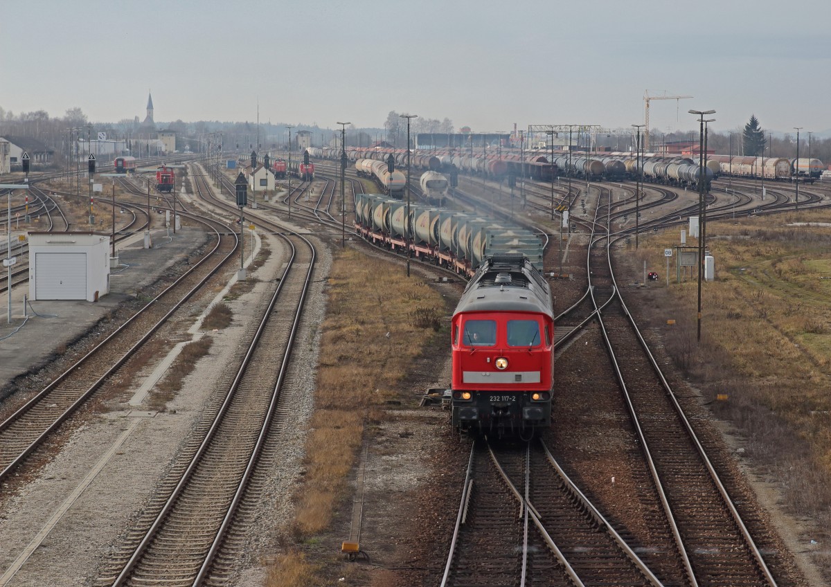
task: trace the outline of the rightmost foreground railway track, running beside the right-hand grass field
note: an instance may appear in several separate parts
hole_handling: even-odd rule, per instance
[[[612,247],[606,243],[607,239],[593,243],[591,283],[594,291],[619,292],[612,273]],[[776,585],[622,297],[614,296],[598,316],[632,429],[685,561],[686,581],[725,587]]]

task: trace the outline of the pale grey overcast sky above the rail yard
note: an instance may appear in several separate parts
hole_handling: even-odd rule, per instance
[[[3,0],[0,107],[93,122],[831,130],[829,0]]]

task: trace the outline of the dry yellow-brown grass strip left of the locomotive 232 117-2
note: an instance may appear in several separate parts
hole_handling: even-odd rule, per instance
[[[420,278],[407,279],[401,267],[352,250],[336,253],[329,284],[316,412],[309,423],[307,472],[297,491],[292,531],[299,542],[327,530],[347,497],[347,476],[365,428],[384,417],[383,404],[400,393],[411,360],[435,335],[431,321],[416,325],[414,312],[419,308],[440,316],[444,311],[442,297]],[[312,572],[302,555],[299,560],[303,564],[296,555],[275,561],[267,585],[311,585],[307,575],[286,579],[294,568]],[[317,577],[314,585],[322,583]]]

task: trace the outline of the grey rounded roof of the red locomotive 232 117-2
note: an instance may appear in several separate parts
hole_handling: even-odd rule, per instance
[[[470,280],[456,306],[460,312],[542,312],[553,318],[551,289],[528,257],[488,257]]]

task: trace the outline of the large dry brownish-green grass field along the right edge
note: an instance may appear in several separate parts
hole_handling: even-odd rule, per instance
[[[701,345],[696,344],[696,281],[661,279],[647,296],[652,325],[666,349],[741,428],[748,452],[781,480],[792,512],[828,528],[831,508],[831,234],[827,227],[789,227],[799,219],[829,222],[828,212],[711,223],[708,248],[717,281],[702,292]],[[644,239],[633,266],[665,271],[664,247],[676,232]],[[675,276],[671,268],[671,278]],[[661,275],[661,277],[663,277]],[[630,296],[631,297],[631,296]],[[666,319],[676,319],[667,326]],[[728,394],[726,402],[716,394]]]

